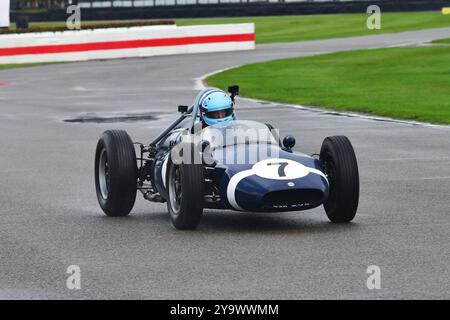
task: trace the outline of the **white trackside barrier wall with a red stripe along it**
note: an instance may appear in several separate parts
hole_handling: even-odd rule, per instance
[[[85,61],[255,48],[253,23],[0,35],[0,64]]]

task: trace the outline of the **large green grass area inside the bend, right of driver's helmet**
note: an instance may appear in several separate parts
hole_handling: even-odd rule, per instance
[[[450,48],[360,50],[257,63],[207,79],[243,96],[450,124]]]

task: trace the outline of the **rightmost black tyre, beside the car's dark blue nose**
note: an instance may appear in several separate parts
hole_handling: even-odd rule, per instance
[[[330,184],[324,208],[331,222],[350,222],[359,202],[359,173],[355,152],[345,136],[327,137],[320,161]]]

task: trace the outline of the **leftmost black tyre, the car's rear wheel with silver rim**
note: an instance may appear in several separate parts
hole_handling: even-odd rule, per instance
[[[105,131],[95,152],[95,189],[107,216],[130,213],[136,201],[138,170],[130,136],[123,130]]]

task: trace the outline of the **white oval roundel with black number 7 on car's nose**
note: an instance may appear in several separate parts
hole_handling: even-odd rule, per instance
[[[294,180],[307,176],[310,168],[289,159],[265,159],[253,165],[252,171],[261,178]]]

